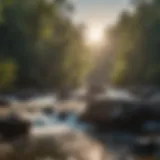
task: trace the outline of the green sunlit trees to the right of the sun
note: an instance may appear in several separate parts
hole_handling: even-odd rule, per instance
[[[111,38],[116,55],[114,84],[160,85],[160,4],[156,0],[139,2],[133,13],[122,13]]]

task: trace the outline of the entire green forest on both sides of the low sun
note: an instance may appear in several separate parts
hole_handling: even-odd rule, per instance
[[[67,0],[0,2],[1,91],[85,83],[96,65],[91,53],[96,51],[85,43],[85,24],[73,22],[74,9]],[[123,10],[104,35],[109,53],[101,49],[106,54],[103,72],[95,69],[101,74],[96,76],[106,75],[122,87],[160,85],[159,0],[132,0],[131,9]]]

